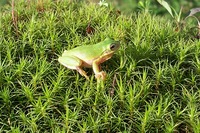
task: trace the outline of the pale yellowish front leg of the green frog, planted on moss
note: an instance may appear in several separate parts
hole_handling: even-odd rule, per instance
[[[97,79],[102,79],[102,80],[105,80],[106,79],[106,73],[104,71],[100,71],[99,69],[99,64],[101,63],[101,59],[96,59],[93,61],[92,63],[92,68],[93,68],[93,71],[95,73],[95,77]]]

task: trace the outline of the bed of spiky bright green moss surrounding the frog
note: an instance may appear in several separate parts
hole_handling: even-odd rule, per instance
[[[0,132],[199,133],[198,31],[190,22],[177,31],[173,20],[137,10],[24,0],[13,14],[2,8]],[[65,49],[107,36],[121,48],[102,65],[104,86],[92,70],[87,81],[58,63]]]

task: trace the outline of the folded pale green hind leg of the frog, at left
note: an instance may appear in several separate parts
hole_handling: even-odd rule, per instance
[[[61,56],[58,58],[58,61],[69,69],[77,70],[82,76],[89,80],[86,72],[81,68],[83,62],[79,58],[75,56]]]

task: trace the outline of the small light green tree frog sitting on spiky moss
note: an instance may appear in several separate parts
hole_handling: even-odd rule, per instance
[[[82,67],[92,67],[97,80],[105,80],[106,73],[100,71],[99,65],[110,59],[119,47],[120,43],[118,41],[106,38],[104,41],[94,45],[84,45],[65,50],[62,56],[58,58],[58,61],[69,69],[77,70],[86,79],[89,79],[89,77]]]

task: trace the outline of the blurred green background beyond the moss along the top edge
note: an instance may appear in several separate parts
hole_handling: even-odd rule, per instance
[[[27,0],[28,1],[28,0]],[[40,1],[40,0],[38,0]],[[71,0],[71,1],[79,1],[82,0]],[[87,0],[89,2],[98,3],[100,0]],[[126,11],[126,12],[133,12],[136,11],[138,7],[138,3],[141,1],[145,3],[146,1],[149,2],[148,7],[150,8],[151,12],[156,14],[167,14],[164,8],[158,4],[156,0],[105,0],[106,2],[112,3],[115,6],[118,6],[119,9]],[[176,11],[179,11],[181,7],[183,7],[183,13],[188,13],[191,8],[199,7],[200,2],[199,0],[166,0]],[[5,5],[11,2],[11,0],[1,0],[0,5]]]

